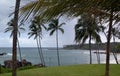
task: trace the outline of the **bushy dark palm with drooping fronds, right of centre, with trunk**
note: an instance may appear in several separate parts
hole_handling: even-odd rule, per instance
[[[84,44],[89,38],[90,64],[92,64],[91,40],[101,42],[99,32],[100,28],[90,14],[81,15],[81,19],[75,25],[75,41],[77,43]]]

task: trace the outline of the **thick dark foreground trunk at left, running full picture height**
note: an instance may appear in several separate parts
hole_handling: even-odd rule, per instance
[[[17,67],[17,26],[18,26],[18,14],[19,14],[20,0],[16,0],[14,22],[13,22],[13,49],[12,49],[12,76],[16,76]]]

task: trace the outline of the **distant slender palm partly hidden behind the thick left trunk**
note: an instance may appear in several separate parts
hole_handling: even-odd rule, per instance
[[[8,23],[7,23],[8,27],[5,29],[5,33],[6,32],[11,32],[10,34],[10,37],[13,36],[13,19],[11,19]],[[25,31],[25,29],[22,27],[23,23],[21,23],[19,26],[18,26],[18,35],[20,36],[20,31],[23,30]],[[18,40],[18,38],[17,38]],[[17,41],[18,43],[18,50],[19,50],[19,56],[20,56],[20,61],[22,61],[22,55],[21,55],[21,49],[20,49],[20,44],[19,44],[19,40]]]

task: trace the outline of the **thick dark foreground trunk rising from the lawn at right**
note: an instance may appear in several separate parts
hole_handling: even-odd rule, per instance
[[[110,70],[110,37],[111,37],[111,30],[112,30],[112,22],[113,22],[113,11],[110,11],[110,18],[109,18],[109,30],[107,36],[107,48],[106,48],[106,67],[105,67],[105,76],[109,76]]]

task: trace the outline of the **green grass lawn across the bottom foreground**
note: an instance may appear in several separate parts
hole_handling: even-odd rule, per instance
[[[104,76],[105,65],[71,65],[22,70],[17,76]],[[0,76],[11,76],[11,73]],[[110,76],[120,76],[120,65],[110,65]]]

